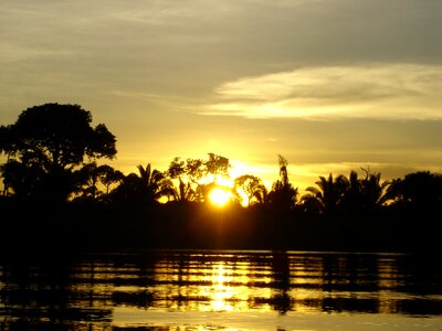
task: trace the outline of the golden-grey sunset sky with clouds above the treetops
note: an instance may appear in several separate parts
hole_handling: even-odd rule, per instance
[[[231,160],[299,190],[442,172],[440,0],[2,0],[0,124],[78,104],[125,173]]]

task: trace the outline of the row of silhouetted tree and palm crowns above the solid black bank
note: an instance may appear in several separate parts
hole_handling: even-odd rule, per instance
[[[92,115],[77,105],[45,104],[28,108],[13,125],[0,127],[3,195],[25,202],[96,201],[152,204],[161,197],[176,202],[204,202],[218,177],[228,177],[228,158],[209,153],[208,159],[175,158],[166,171],[150,163],[138,173],[124,175],[99,159],[113,159],[116,139],[105,125],[92,127]],[[288,179],[288,162],[278,157],[280,178],[270,191],[253,174],[234,179],[236,203],[273,204],[283,210],[336,215],[341,212],[375,212],[389,204],[431,205],[442,200],[442,177],[419,171],[391,182],[380,173],[362,169],[348,177],[319,177],[315,186],[299,196]],[[201,179],[211,181],[201,183]]]

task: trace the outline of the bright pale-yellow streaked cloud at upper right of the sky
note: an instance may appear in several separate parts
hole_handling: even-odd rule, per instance
[[[441,65],[304,67],[227,82],[201,113],[248,118],[440,119],[441,92]]]

